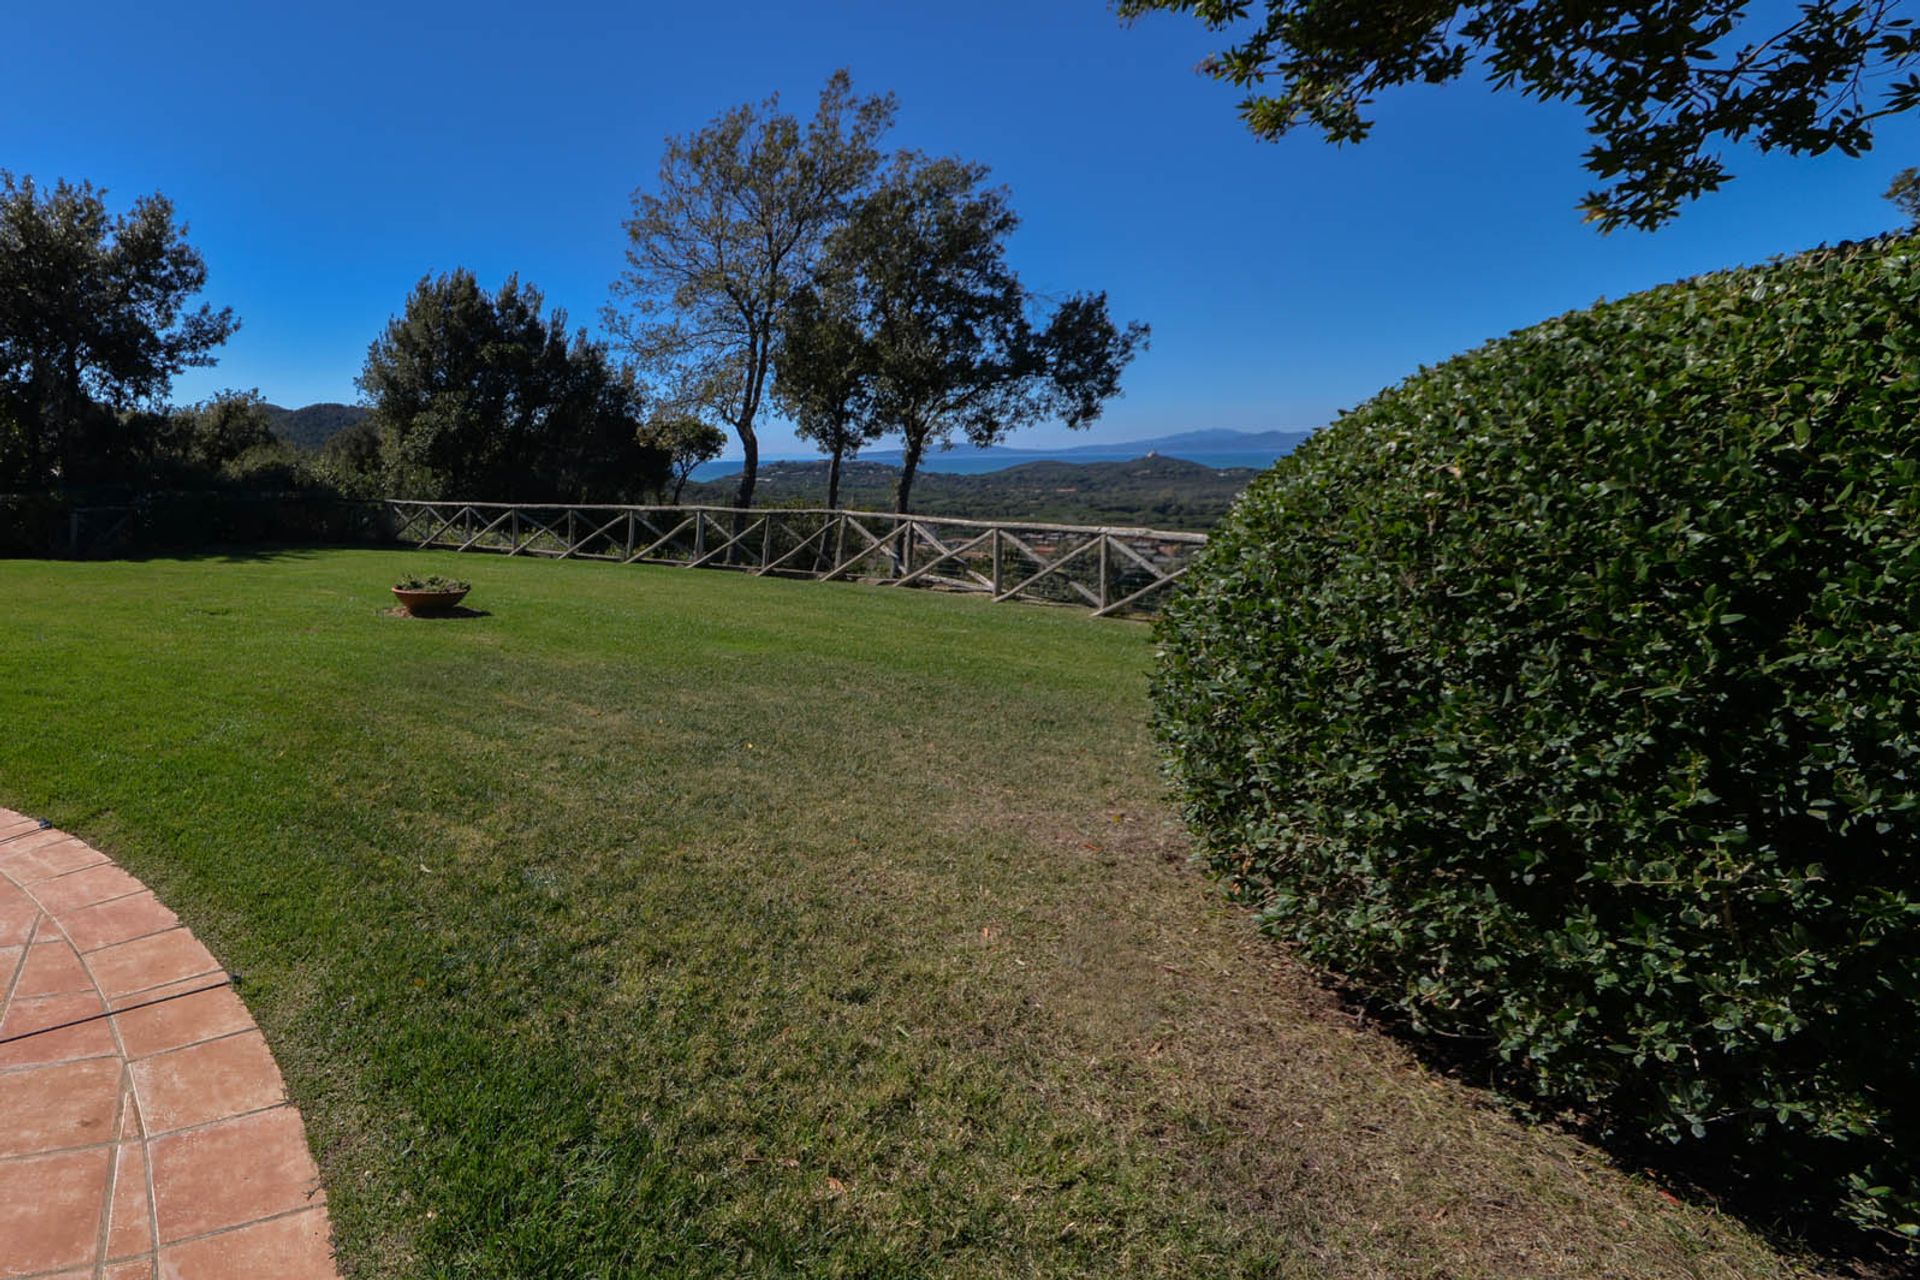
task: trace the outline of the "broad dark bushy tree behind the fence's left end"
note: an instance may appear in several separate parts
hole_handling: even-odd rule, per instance
[[[486,294],[470,271],[422,278],[367,349],[359,388],[382,470],[432,497],[612,501],[657,487],[639,386],[532,284]]]

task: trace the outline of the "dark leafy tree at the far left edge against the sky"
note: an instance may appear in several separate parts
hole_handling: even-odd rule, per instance
[[[86,482],[140,447],[138,411],[240,326],[188,309],[205,280],[165,196],[108,215],[90,182],[0,169],[0,487]]]

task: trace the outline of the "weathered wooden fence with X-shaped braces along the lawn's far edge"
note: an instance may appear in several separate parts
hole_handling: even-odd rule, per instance
[[[979,591],[1152,612],[1206,533],[876,510],[609,507],[388,499],[396,539],[555,560],[732,568],[749,574]]]

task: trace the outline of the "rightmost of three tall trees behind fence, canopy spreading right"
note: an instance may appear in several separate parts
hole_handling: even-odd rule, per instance
[[[1146,342],[1144,324],[1114,324],[1106,294],[1046,313],[1006,261],[1020,219],[985,178],[985,165],[902,155],[833,234],[872,349],[864,413],[904,443],[897,510],[927,445],[987,447],[1046,418],[1091,426]]]

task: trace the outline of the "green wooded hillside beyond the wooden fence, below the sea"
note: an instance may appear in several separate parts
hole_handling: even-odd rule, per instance
[[[1129,462],[1021,462],[979,474],[920,472],[914,512],[972,520],[1046,520],[1058,524],[1133,524],[1164,530],[1206,530],[1260,472],[1215,470],[1181,459]],[[891,510],[900,468],[849,462],[841,476],[841,505]],[[772,462],[760,468],[756,503],[824,505],[826,462]],[[689,484],[682,501],[726,503],[733,480]]]

